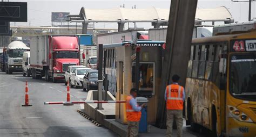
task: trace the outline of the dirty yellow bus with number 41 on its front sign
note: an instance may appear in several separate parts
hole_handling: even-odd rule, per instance
[[[216,136],[256,136],[256,31],[193,39],[185,118]]]

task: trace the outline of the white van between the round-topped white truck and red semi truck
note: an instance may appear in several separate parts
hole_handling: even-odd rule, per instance
[[[31,69],[30,69],[30,52],[24,52],[22,57],[22,70],[23,76],[30,76]]]

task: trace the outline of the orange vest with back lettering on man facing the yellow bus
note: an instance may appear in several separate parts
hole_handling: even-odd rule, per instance
[[[183,86],[171,84],[166,86],[166,109],[183,110]]]

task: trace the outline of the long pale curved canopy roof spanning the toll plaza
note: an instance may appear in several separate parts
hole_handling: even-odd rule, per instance
[[[147,9],[85,9],[82,7],[79,15],[68,15],[68,21],[83,23],[83,33],[87,31],[88,23],[118,23],[118,31],[122,31],[125,23],[149,22],[155,28],[167,25],[170,9],[147,8]],[[225,24],[233,23],[234,19],[225,6],[214,9],[197,9],[196,24],[210,21],[224,21]]]

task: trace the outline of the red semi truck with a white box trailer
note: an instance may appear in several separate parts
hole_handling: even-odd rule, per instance
[[[30,66],[32,78],[45,81],[64,80],[70,65],[79,65],[79,45],[76,35],[42,35],[31,38]]]

